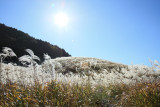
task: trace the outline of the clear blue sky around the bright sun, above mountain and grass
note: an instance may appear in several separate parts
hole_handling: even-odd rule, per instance
[[[59,13],[68,17],[63,27],[55,23]],[[160,61],[160,0],[0,0],[0,23],[72,56]]]

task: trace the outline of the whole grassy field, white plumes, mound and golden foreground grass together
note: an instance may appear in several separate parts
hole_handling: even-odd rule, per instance
[[[38,65],[29,54],[20,58],[29,67],[1,63],[0,107],[160,106],[158,61],[152,67],[123,66],[44,54]]]

